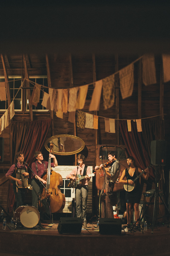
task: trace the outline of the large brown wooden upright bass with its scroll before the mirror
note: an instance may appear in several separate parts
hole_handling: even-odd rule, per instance
[[[53,147],[54,145],[50,143],[50,154],[53,154]],[[62,211],[66,202],[65,195],[61,193],[60,189],[63,184],[63,179],[59,173],[54,172],[51,169],[51,158],[49,158],[48,161],[48,170],[42,177],[42,179],[47,181],[47,185],[46,188],[43,188],[41,200],[46,201],[46,204],[50,207],[51,213],[57,213]],[[42,207],[42,210],[44,210],[41,202],[40,206]]]

